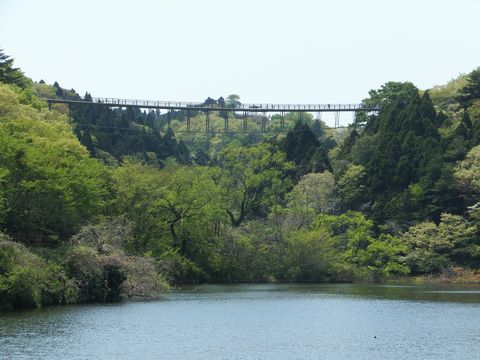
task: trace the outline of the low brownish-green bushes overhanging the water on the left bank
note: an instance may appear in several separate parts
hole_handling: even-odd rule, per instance
[[[152,258],[86,245],[58,258],[48,261],[0,233],[0,309],[154,297],[168,289]]]

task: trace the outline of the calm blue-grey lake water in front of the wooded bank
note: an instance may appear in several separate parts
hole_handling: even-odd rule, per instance
[[[0,313],[1,359],[479,359],[480,287],[199,286]]]

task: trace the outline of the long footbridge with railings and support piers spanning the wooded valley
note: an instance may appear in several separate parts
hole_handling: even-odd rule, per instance
[[[212,112],[220,112],[224,119],[224,131],[230,132],[228,113],[240,114],[242,120],[242,131],[248,130],[248,117],[251,114],[261,115],[261,132],[272,132],[267,128],[268,115],[280,115],[280,129],[285,130],[285,114],[287,113],[333,113],[335,118],[334,128],[342,128],[340,126],[341,113],[376,113],[380,111],[379,106],[365,106],[364,104],[271,104],[271,103],[237,103],[234,105],[205,102],[185,102],[185,101],[157,101],[157,100],[138,100],[138,99],[119,99],[119,98],[101,98],[94,97],[92,101],[88,100],[66,100],[45,98],[49,107],[52,104],[83,105],[83,106],[104,106],[109,108],[140,108],[140,109],[158,109],[167,111],[168,126],[170,127],[171,116],[175,111],[184,111],[185,121],[187,125],[186,132],[194,132],[191,126],[191,115],[193,112],[205,113],[204,132],[212,133],[210,124],[210,114]],[[278,132],[276,130],[275,132]]]

